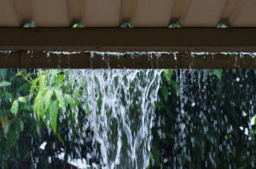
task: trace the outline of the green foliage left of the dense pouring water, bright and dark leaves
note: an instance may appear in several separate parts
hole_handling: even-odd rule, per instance
[[[15,70],[0,70],[1,167],[55,168],[49,163],[49,155],[54,157],[65,152],[67,161],[67,156],[87,158],[86,152],[99,149],[99,144],[93,146],[92,142],[87,142],[83,145],[82,155],[78,156],[75,151],[81,145],[73,140],[83,139],[76,131],[78,127],[82,129],[84,124],[83,121],[76,125],[75,114],[86,114],[79,111],[80,88],[75,87],[73,82],[69,86],[64,85],[64,78],[72,81],[70,76],[69,71],[65,74],[63,70],[20,70],[17,74]],[[7,79],[11,79],[11,82]],[[67,118],[60,121],[63,114]],[[35,128],[38,132],[35,132]],[[73,130],[73,138],[61,138],[61,134],[66,133],[67,136],[70,129]],[[89,128],[86,133],[87,138],[93,135]],[[45,151],[38,149],[44,140],[48,140]],[[52,149],[52,144],[56,149]],[[38,156],[41,156],[40,161]],[[100,159],[101,155],[90,160],[90,164],[99,163]],[[35,166],[35,161],[38,166]],[[66,164],[65,161],[56,163],[60,168]]]

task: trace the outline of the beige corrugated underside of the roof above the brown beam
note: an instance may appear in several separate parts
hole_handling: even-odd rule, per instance
[[[0,26],[256,26],[255,0],[0,0]]]

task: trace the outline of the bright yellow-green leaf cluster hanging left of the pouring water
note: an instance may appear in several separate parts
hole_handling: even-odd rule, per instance
[[[68,71],[67,78],[69,75]],[[37,115],[38,121],[44,121],[48,129],[51,127],[54,133],[57,132],[57,119],[61,111],[72,110],[74,120],[74,111],[79,106],[79,87],[73,90],[65,86],[63,70],[38,70],[35,79],[32,79],[32,74],[23,75],[22,71],[17,76],[27,77],[26,80],[32,84],[33,112]]]

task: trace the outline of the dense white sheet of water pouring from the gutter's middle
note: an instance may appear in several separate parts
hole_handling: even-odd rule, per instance
[[[79,101],[90,112],[86,127],[101,144],[105,168],[148,166],[161,71],[72,70],[84,88]]]

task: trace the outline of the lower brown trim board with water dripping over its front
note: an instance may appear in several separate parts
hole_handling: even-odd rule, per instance
[[[71,69],[256,69],[250,54],[49,54],[16,51],[0,53],[0,68]],[[175,59],[176,55],[176,59]],[[103,59],[102,59],[103,58]]]

